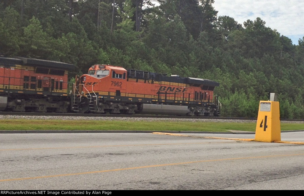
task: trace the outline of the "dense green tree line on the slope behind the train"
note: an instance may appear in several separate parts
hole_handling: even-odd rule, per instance
[[[0,1],[0,53],[215,80],[226,117],[257,117],[278,93],[280,117],[304,118],[304,37],[261,18],[218,16],[214,0]]]

